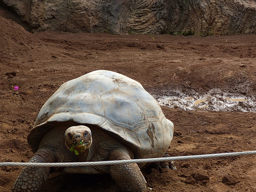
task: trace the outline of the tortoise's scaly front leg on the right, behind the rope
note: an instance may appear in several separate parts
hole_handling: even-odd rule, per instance
[[[124,148],[118,148],[110,153],[110,160],[130,159]],[[110,174],[123,191],[145,191],[146,180],[136,163],[115,164],[110,166]]]

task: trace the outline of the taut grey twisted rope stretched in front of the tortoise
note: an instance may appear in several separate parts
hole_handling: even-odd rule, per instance
[[[148,159],[97,161],[97,162],[72,162],[72,163],[1,162],[0,167],[3,167],[3,166],[26,166],[26,167],[106,166],[106,165],[114,165],[114,164],[154,163],[154,162],[162,162],[162,161],[192,160],[192,159],[204,159],[204,158],[220,158],[220,157],[242,156],[242,155],[253,155],[253,154],[256,154],[256,151],[217,153],[217,154],[204,154],[204,155],[191,155],[191,156],[176,156],[176,157],[162,157],[162,158],[148,158]]]

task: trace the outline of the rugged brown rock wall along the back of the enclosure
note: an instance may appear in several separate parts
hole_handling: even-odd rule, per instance
[[[256,0],[0,0],[32,32],[256,34]]]

